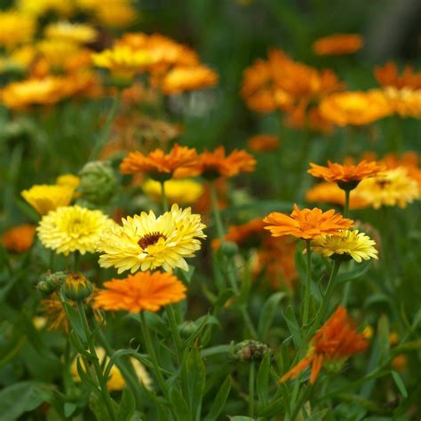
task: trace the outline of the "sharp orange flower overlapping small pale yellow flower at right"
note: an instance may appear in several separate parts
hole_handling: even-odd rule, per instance
[[[342,218],[340,213],[333,209],[322,212],[318,208],[298,209],[294,204],[294,211],[289,215],[272,212],[263,219],[269,224],[265,226],[274,237],[293,235],[298,238],[309,240],[322,234],[338,234],[342,229],[348,229],[353,225],[353,220]]]

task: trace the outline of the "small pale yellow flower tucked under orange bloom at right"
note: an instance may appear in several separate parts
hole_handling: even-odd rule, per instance
[[[325,258],[341,260],[353,258],[358,263],[369,258],[377,259],[378,251],[375,245],[376,242],[357,229],[342,231],[335,235],[322,235],[311,242],[312,250]]]

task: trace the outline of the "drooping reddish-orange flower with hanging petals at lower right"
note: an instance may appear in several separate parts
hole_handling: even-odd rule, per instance
[[[362,333],[357,333],[353,320],[346,309],[339,306],[310,342],[306,357],[285,373],[280,381],[298,377],[307,367],[312,367],[310,383],[314,385],[323,365],[330,362],[344,362],[354,353],[365,351],[369,342]]]

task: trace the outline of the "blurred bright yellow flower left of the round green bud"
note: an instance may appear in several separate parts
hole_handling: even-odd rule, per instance
[[[20,195],[40,214],[46,215],[59,206],[68,206],[75,188],[41,184],[23,190]]]

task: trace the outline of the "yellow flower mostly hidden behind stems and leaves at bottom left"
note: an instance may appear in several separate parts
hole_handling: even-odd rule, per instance
[[[107,357],[107,354],[105,353],[104,349],[101,347],[95,348],[95,353],[97,353],[99,363],[101,366],[106,367],[107,363],[109,362],[109,358]],[[136,376],[139,378],[139,381],[143,383],[143,385],[147,389],[152,389],[152,379],[149,377],[149,374],[147,373],[147,369],[142,365],[140,361],[138,361],[136,358],[131,357],[130,359],[131,365],[133,366],[134,372]],[[86,366],[84,365],[84,362],[81,361],[83,369],[86,369]],[[72,365],[70,366],[70,372],[72,373],[73,380],[75,382],[80,382],[81,378],[79,377],[79,373],[77,372],[77,362],[76,359],[72,362]],[[113,365],[111,367],[111,370],[109,372],[109,377],[107,379],[107,389],[112,390],[123,390],[124,388],[124,378],[123,375],[118,369],[116,365]]]

